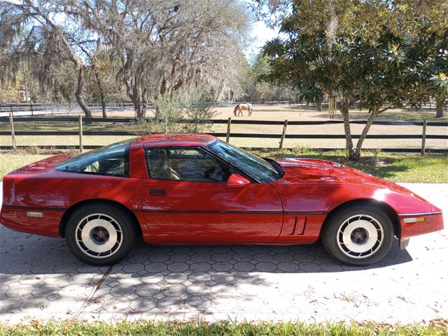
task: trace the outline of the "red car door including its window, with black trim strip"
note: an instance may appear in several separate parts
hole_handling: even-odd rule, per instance
[[[283,209],[269,184],[229,185],[238,172],[200,148],[148,148],[146,164],[142,209],[156,242],[255,243],[279,236]]]

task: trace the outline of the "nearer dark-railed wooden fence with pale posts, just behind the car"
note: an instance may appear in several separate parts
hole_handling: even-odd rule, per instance
[[[9,113],[9,118],[0,118],[0,121],[9,122],[10,131],[0,131],[0,136],[11,136],[13,140],[12,146],[0,146],[0,149],[16,149],[18,147],[55,147],[57,149],[68,149],[76,147],[80,151],[85,149],[94,149],[101,147],[100,145],[83,145],[83,136],[133,136],[135,135],[129,131],[83,131],[83,122],[89,123],[118,123],[127,124],[132,123],[135,119],[132,118],[83,118],[82,115],[78,117],[13,117],[13,114]],[[17,122],[76,122],[78,124],[78,131],[15,131],[15,123]],[[189,120],[182,120],[181,122],[190,122]],[[213,136],[222,137],[226,141],[230,141],[230,138],[272,138],[279,139],[279,148],[283,148],[285,139],[344,139],[344,134],[288,134],[288,126],[302,125],[302,126],[318,126],[324,124],[342,124],[340,120],[327,120],[327,121],[277,121],[277,120],[242,120],[232,118],[214,119],[204,121],[209,124],[227,124],[226,133],[209,133]],[[281,133],[232,133],[232,124],[244,124],[244,125],[283,125]],[[353,120],[351,124],[365,124],[365,121]],[[427,134],[427,126],[448,127],[448,122],[374,122],[377,125],[392,125],[392,126],[421,126],[421,134],[368,134],[367,139],[419,139],[421,140],[420,148],[379,148],[384,152],[420,152],[424,155],[426,152],[433,153],[448,153],[447,148],[431,148],[426,149],[426,139],[444,139],[447,140],[448,135],[440,134]],[[79,136],[79,145],[55,145],[55,146],[18,146],[16,145],[17,136]],[[358,139],[360,136],[353,134],[353,139]],[[447,146],[448,147],[448,146]],[[340,148],[315,148],[318,150],[328,151]]]

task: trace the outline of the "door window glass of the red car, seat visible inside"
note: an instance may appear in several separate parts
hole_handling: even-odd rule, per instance
[[[235,173],[201,149],[152,148],[146,150],[149,175],[156,180],[227,182]]]

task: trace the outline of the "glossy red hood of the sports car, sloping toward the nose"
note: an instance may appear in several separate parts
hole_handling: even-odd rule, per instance
[[[281,178],[286,183],[337,183],[370,184],[375,187],[388,188],[393,191],[416,196],[412,191],[393,182],[382,180],[341,163],[318,159],[274,159],[285,175]],[[419,196],[417,196],[419,197]],[[419,197],[420,198],[420,197]],[[421,198],[423,199],[423,198]]]

